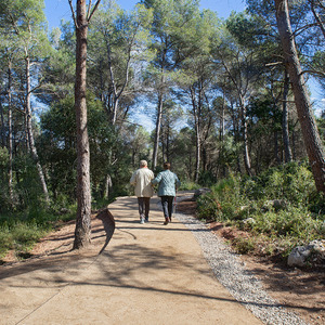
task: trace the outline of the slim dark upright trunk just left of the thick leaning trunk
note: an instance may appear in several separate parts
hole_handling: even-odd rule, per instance
[[[292,153],[289,140],[289,112],[288,112],[288,92],[289,92],[289,77],[287,70],[284,75],[284,87],[283,87],[283,114],[282,114],[282,138],[285,152],[285,162],[290,162],[292,160]]]

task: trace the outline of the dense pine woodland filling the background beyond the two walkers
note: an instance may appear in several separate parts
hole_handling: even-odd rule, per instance
[[[72,21],[48,30],[43,0],[0,0],[2,221],[76,205],[81,152],[93,207],[132,194],[140,159],[155,172],[170,161],[184,188],[296,161],[325,192],[325,120],[307,86],[325,90],[323,0],[246,0],[226,20],[196,0],[89,2],[69,1]]]

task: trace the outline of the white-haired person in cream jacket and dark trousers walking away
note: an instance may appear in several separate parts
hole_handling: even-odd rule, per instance
[[[133,172],[130,179],[130,184],[134,186],[135,196],[138,197],[140,223],[148,222],[151,197],[154,195],[152,186],[154,178],[154,172],[147,168],[146,160],[141,160],[140,168]]]

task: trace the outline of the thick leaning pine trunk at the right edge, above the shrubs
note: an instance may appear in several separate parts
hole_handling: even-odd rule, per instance
[[[302,76],[294,35],[291,31],[288,1],[274,0],[276,21],[286,67],[290,77],[298,118],[302,130],[309,162],[317,191],[325,193],[325,159],[321,138],[312,113],[306,81]]]

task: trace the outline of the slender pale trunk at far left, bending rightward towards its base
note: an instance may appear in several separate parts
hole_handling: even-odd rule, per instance
[[[49,197],[49,192],[48,192],[48,186],[46,183],[46,178],[43,174],[43,170],[42,167],[40,165],[39,161],[39,157],[38,157],[38,153],[37,153],[37,148],[35,145],[35,141],[34,141],[34,135],[32,135],[32,126],[31,126],[31,107],[30,107],[30,95],[31,95],[31,91],[30,91],[30,60],[28,56],[28,53],[26,51],[26,57],[25,57],[25,62],[26,62],[26,128],[27,128],[27,139],[28,139],[28,145],[30,148],[30,153],[31,153],[31,157],[32,160],[36,164],[37,167],[37,171],[38,171],[38,176],[42,185],[42,190],[43,190],[43,195],[44,195],[44,199],[47,205],[50,204],[50,197]]]

